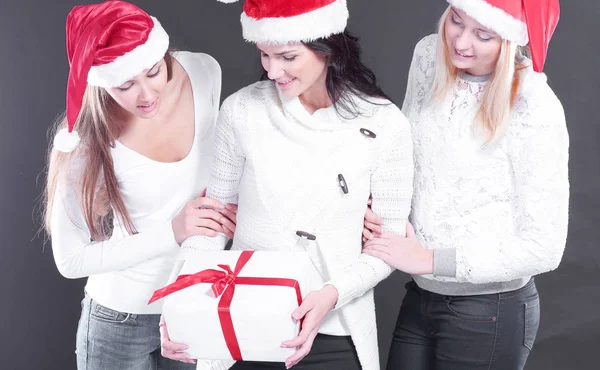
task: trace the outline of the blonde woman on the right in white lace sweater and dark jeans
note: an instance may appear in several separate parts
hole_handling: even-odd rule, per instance
[[[412,225],[382,234],[368,212],[364,253],[413,277],[389,370],[522,369],[540,317],[532,276],[559,265],[567,236],[569,140],[542,73],[558,1],[448,2],[402,108]]]

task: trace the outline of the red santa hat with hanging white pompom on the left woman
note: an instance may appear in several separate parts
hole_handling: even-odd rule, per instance
[[[123,1],[76,6],[67,16],[67,124],[54,147],[71,152],[79,143],[74,131],[87,84],[117,87],[152,68],[169,48],[158,20]]]

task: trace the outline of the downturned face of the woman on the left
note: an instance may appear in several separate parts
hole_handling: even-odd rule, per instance
[[[161,93],[167,82],[167,64],[163,58],[121,86],[107,88],[106,91],[127,112],[150,119],[158,114]]]

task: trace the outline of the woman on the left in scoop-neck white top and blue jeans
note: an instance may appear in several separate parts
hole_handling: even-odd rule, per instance
[[[179,243],[234,230],[223,216],[235,221],[235,207],[198,197],[220,67],[169,52],[158,20],[126,2],[77,6],[66,28],[67,110],[50,150],[46,228],[60,273],[88,277],[77,367],[193,368],[161,356],[161,302],[147,302]]]

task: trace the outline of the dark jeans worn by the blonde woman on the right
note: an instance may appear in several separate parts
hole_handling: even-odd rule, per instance
[[[444,296],[406,284],[387,370],[523,369],[540,319],[533,278],[521,289]]]

